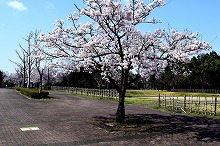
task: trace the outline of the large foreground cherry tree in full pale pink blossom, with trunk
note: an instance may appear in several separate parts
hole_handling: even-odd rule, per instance
[[[163,0],[85,0],[85,8],[67,16],[71,26],[57,20],[56,28],[49,34],[41,33],[44,42],[42,53],[59,59],[65,69],[83,67],[99,69],[119,93],[116,121],[125,119],[125,94],[127,87],[140,77],[162,71],[168,63],[187,61],[189,56],[211,49],[200,41],[198,33],[156,29],[141,32],[139,24],[157,23],[148,18],[156,8],[165,5]],[[81,21],[88,20],[87,23]],[[58,61],[58,62],[59,62]],[[129,73],[136,74],[129,78]]]

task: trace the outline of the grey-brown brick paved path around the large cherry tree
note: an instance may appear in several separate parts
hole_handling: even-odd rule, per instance
[[[161,123],[165,122],[173,131],[114,134],[89,122],[94,117],[112,116],[117,103],[55,92],[50,95],[55,100],[37,101],[13,89],[0,89],[0,146],[220,145],[218,121],[213,124],[203,118],[188,121],[186,116],[127,105],[127,115],[141,114],[159,122],[163,120]],[[183,123],[187,123],[185,129],[178,129]],[[26,126],[37,126],[40,130],[22,132],[20,128]]]

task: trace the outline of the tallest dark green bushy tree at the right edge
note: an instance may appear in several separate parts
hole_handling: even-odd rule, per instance
[[[193,88],[219,89],[220,56],[216,52],[193,57],[187,67]]]

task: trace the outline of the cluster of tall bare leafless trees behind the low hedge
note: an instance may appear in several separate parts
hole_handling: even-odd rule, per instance
[[[39,92],[41,92],[43,84],[49,87],[58,80],[53,76],[57,72],[50,67],[50,57],[38,55],[36,46],[40,43],[39,33],[38,30],[31,31],[24,38],[26,43],[24,45],[19,44],[20,50],[15,50],[19,61],[10,60],[16,65],[16,73],[7,77],[17,86],[25,88],[39,87]]]

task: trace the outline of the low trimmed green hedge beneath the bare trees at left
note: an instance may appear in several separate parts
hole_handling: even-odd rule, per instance
[[[16,87],[15,89],[19,91],[21,94],[24,94],[33,99],[49,98],[49,92],[46,91],[41,91],[41,93],[39,93],[38,89],[28,89],[22,87]]]

